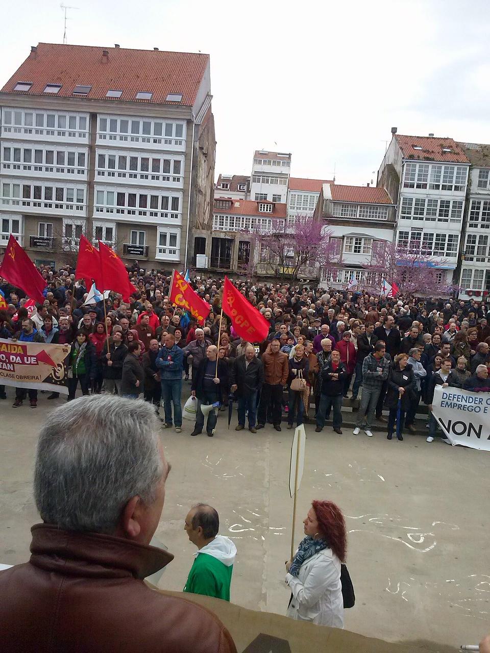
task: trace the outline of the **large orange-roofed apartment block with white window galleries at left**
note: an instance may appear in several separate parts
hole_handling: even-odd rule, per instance
[[[84,233],[126,263],[185,268],[211,219],[211,98],[206,54],[33,46],[0,91],[0,246],[12,232],[57,266]]]

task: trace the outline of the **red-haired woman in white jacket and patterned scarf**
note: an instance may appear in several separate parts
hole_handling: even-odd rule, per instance
[[[304,534],[293,560],[286,562],[291,590],[287,616],[320,626],[344,628],[340,564],[345,562],[346,523],[338,505],[314,501],[303,521]]]

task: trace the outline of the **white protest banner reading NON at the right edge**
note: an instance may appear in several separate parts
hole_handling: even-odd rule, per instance
[[[436,385],[432,411],[451,444],[490,451],[490,392]]]

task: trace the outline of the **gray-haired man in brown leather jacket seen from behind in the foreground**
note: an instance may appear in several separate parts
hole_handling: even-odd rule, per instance
[[[110,395],[50,413],[39,434],[29,562],[0,574],[0,650],[236,652],[221,622],[144,577],[170,466],[150,404]],[[40,627],[42,624],[42,627]]]

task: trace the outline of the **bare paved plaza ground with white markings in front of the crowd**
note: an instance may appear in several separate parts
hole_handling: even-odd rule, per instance
[[[37,430],[63,399],[39,394],[37,409],[14,409],[7,392],[0,405],[0,562],[17,564],[27,560],[29,528],[39,520],[31,490]],[[159,586],[182,590],[195,550],[184,517],[193,503],[208,502],[220,513],[221,534],[238,549],[231,600],[284,614],[293,431],[283,422],[282,432],[267,425],[255,435],[237,433],[236,413],[230,430],[226,414],[214,438],[191,438],[193,422],[185,420],[181,434],[161,430],[172,471],[155,537],[175,560]],[[295,542],[312,499],[340,505],[357,597],[346,628],[440,652],[480,641],[490,621],[489,454],[409,434],[388,442],[380,430],[374,438],[348,428],[338,436],[331,425],[321,433],[308,425],[306,437]]]

